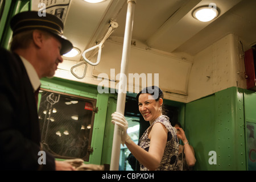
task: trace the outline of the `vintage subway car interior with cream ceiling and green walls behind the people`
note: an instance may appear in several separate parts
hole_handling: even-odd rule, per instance
[[[110,168],[114,125],[127,53],[124,115],[138,143],[150,125],[137,93],[163,90],[172,126],[181,123],[195,150],[195,171],[256,170],[255,0],[1,0],[1,47],[10,48],[10,19],[22,11],[59,16],[76,55],[63,55],[55,76],[42,78],[38,115],[43,149],[57,160]],[[213,19],[197,16],[206,8]],[[207,16],[208,17],[208,16]],[[207,18],[203,16],[203,18]],[[119,170],[137,171],[120,146]]]

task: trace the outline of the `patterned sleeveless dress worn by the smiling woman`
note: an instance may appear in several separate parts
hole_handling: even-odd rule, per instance
[[[162,125],[166,127],[168,137],[167,137],[166,148],[164,148],[163,158],[160,162],[160,166],[156,169],[156,171],[172,171],[177,164],[179,143],[178,143],[175,130],[171,126],[169,118],[166,115],[160,115],[160,117],[155,119],[152,125],[150,125],[150,127],[148,127],[148,129],[144,132],[141,139],[139,139],[138,145],[146,151],[149,150],[150,139],[148,138],[148,131],[150,131],[152,126],[157,122],[162,123]],[[141,165],[141,171],[148,171],[146,167],[144,167],[142,164],[140,165]]]

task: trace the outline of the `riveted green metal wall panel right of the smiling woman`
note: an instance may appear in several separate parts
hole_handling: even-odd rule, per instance
[[[232,87],[186,105],[185,133],[195,149],[195,170],[246,170],[244,113],[255,110],[247,107],[254,107],[256,97],[247,102],[244,93],[248,97],[247,90]],[[216,164],[210,151],[216,152]]]

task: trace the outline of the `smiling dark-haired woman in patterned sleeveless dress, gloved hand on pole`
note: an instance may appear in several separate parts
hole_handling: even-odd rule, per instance
[[[179,144],[169,118],[162,114],[163,92],[158,86],[149,86],[137,94],[139,111],[150,127],[138,145],[127,134],[128,122],[120,113],[112,114],[112,123],[122,128],[122,143],[139,161],[141,170],[170,171],[177,163]]]

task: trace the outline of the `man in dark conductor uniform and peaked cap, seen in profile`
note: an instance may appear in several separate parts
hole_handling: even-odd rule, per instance
[[[11,52],[0,48],[0,169],[74,170],[46,151],[40,158],[40,129],[35,93],[40,78],[52,77],[61,55],[72,49],[55,15],[26,11],[11,19]]]

